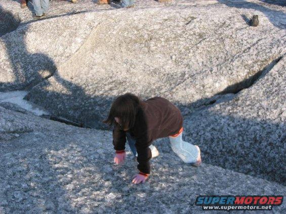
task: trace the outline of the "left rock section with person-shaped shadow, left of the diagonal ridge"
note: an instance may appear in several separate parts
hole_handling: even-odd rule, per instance
[[[13,17],[1,8],[0,13]],[[13,25],[9,26],[12,29]],[[54,18],[20,24],[1,36],[0,91],[28,89],[54,75],[57,66],[77,51],[93,27],[92,15],[66,16],[64,20]]]

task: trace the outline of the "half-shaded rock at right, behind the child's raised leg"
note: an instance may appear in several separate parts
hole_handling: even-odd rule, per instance
[[[286,58],[248,89],[185,117],[209,164],[285,185]]]

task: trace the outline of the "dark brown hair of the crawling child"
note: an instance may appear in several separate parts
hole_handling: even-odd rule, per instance
[[[112,125],[115,123],[115,117],[120,119],[120,127],[124,128],[132,128],[135,124],[136,115],[138,112],[139,105],[141,103],[141,99],[132,94],[126,93],[118,96],[112,103],[108,118],[103,121],[108,125]]]

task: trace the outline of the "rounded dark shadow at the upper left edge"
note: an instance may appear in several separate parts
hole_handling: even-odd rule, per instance
[[[0,5],[0,36],[16,30],[19,24],[19,17],[14,16],[8,11],[5,11]]]

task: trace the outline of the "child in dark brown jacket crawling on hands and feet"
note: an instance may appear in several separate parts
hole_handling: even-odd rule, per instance
[[[133,183],[144,183],[150,174],[149,160],[152,157],[152,141],[162,137],[170,139],[173,151],[185,162],[198,167],[201,163],[200,149],[182,140],[183,117],[180,110],[162,97],[142,101],[131,93],[117,97],[111,105],[107,120],[113,127],[114,163],[124,162],[125,143],[137,156],[139,173]],[[151,146],[151,147],[150,147]],[[151,148],[151,149],[150,149]]]

